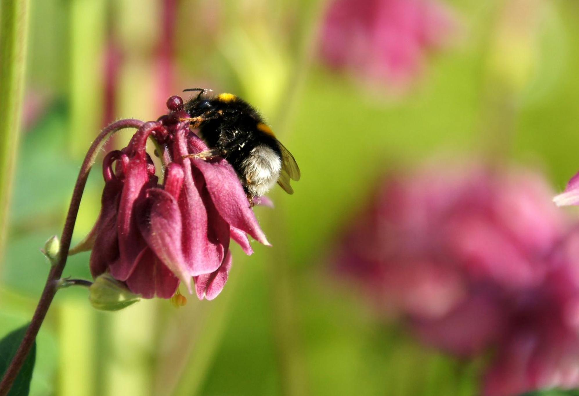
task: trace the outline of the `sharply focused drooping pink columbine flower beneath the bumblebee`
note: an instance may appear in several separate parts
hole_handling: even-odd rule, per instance
[[[229,163],[186,157],[207,146],[179,121],[187,117],[182,103],[171,97],[168,115],[105,156],[101,212],[85,243],[94,277],[110,272],[144,298],[171,298],[182,282],[214,299],[231,267],[230,239],[247,254],[247,235],[269,245]],[[149,137],[163,147],[162,184],[145,151]]]

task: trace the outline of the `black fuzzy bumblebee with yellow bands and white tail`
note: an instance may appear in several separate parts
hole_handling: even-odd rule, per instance
[[[214,95],[201,88],[185,91],[199,91],[184,108],[190,126],[199,130],[197,134],[209,147],[193,157],[225,158],[251,201],[265,195],[276,182],[288,194],[294,193],[290,179],[299,180],[298,164],[254,107],[229,93]]]

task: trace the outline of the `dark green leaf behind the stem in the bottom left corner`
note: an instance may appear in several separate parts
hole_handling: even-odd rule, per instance
[[[24,338],[24,333],[28,329],[28,325],[14,330],[12,333],[6,335],[0,340],[0,376],[3,376],[12,358],[16,354],[16,350],[20,342]],[[36,341],[32,345],[32,349],[28,357],[24,361],[20,373],[16,377],[8,396],[25,396],[30,392],[30,380],[32,379],[32,371],[34,370],[34,362],[36,360]]]

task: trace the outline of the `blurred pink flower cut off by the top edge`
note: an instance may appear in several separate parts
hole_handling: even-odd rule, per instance
[[[404,90],[426,54],[447,45],[457,21],[434,0],[334,0],[325,15],[320,55],[334,69]]]

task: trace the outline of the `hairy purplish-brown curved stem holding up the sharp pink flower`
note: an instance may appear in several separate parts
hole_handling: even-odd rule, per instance
[[[38,305],[36,306],[36,310],[34,311],[34,316],[32,316],[30,325],[28,326],[28,329],[22,342],[20,343],[20,346],[18,347],[18,350],[16,351],[16,354],[14,355],[14,358],[12,359],[12,362],[10,362],[8,370],[2,378],[2,382],[0,382],[0,396],[6,396],[6,394],[8,394],[10,391],[10,387],[12,387],[16,376],[24,364],[25,358],[27,357],[30,349],[32,348],[32,345],[34,344],[36,335],[38,335],[38,331],[50,307],[50,303],[52,303],[54,295],[56,294],[58,289],[58,280],[63,274],[64,266],[67,263],[68,250],[71,245],[72,232],[74,231],[76,215],[78,214],[78,209],[80,206],[80,199],[82,198],[82,193],[85,190],[86,180],[89,177],[90,168],[93,166],[98,152],[113,133],[116,133],[117,131],[124,128],[140,128],[142,124],[144,124],[142,121],[134,119],[120,120],[110,124],[104,130],[102,130],[102,132],[90,146],[89,151],[86,153],[85,160],[80,167],[80,172],[78,174],[78,178],[76,179],[76,184],[72,192],[71,203],[68,207],[67,219],[64,223],[62,236],[60,237],[60,258],[58,259],[57,264],[50,269],[50,273],[48,274],[48,278],[46,280],[46,285],[42,291],[42,295]]]

